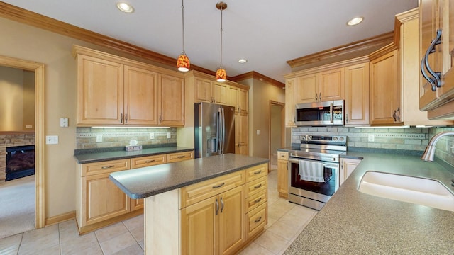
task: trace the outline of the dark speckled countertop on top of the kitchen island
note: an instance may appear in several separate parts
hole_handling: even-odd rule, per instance
[[[146,198],[212,179],[251,166],[267,163],[268,159],[238,154],[222,154],[182,162],[146,166],[117,171],[109,175],[116,186],[129,197]]]

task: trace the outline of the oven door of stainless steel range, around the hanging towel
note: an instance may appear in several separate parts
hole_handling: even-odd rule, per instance
[[[300,164],[302,169],[299,168]],[[309,181],[307,176],[301,176],[301,170],[312,164],[323,164],[323,179]],[[339,188],[339,164],[336,162],[290,158],[288,166],[289,193],[326,203]]]

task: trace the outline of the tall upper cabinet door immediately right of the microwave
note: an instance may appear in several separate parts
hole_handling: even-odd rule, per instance
[[[345,67],[345,126],[369,124],[369,63]]]

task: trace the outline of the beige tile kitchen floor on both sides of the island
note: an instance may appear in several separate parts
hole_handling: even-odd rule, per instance
[[[282,254],[316,215],[277,196],[277,171],[268,176],[268,224],[265,232],[240,252]],[[75,220],[0,239],[0,254],[143,254],[143,215],[79,236]]]

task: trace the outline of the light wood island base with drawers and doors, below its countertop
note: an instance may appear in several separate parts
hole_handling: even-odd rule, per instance
[[[236,254],[265,230],[267,164],[145,198],[145,254]]]

